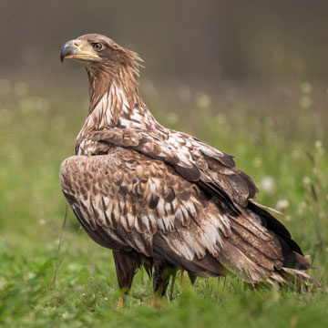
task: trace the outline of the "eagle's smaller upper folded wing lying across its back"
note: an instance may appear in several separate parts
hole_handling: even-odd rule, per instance
[[[231,155],[181,132],[169,130],[168,138],[163,140],[151,131],[111,128],[96,132],[93,138],[98,143],[97,150],[103,148],[104,153],[116,145],[163,160],[237,214],[241,213],[239,206],[245,208],[257,192],[251,178],[235,168]]]

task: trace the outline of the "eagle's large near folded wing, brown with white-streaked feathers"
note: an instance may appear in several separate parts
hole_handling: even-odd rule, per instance
[[[75,156],[60,169],[62,190],[89,236],[112,250],[135,250],[200,276],[227,269],[248,282],[283,281],[282,247],[251,211],[224,204],[162,160],[132,149]]]

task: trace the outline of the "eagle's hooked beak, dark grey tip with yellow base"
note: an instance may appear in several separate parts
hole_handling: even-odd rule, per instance
[[[92,58],[99,58],[99,56],[92,51],[90,45],[82,42],[82,40],[68,41],[60,50],[60,60],[62,63],[67,59],[90,60]]]

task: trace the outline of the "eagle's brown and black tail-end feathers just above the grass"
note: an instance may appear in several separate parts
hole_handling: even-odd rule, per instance
[[[250,215],[249,210],[237,218],[231,217],[231,235],[224,241],[224,251],[220,252],[218,261],[246,282],[278,282],[291,287],[295,283],[306,287],[308,282],[318,285],[305,272],[312,266],[292,241],[289,231],[271,215],[268,218],[272,230],[268,225],[264,228],[259,214]]]

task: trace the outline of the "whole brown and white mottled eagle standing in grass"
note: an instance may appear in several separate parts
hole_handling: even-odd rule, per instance
[[[121,297],[141,267],[154,300],[178,270],[191,282],[228,273],[253,285],[310,280],[300,247],[254,201],[258,190],[233,157],[153,117],[138,92],[135,52],[88,34],[68,41],[60,58],[80,63],[89,87],[61,189],[89,237],[113,251]]]

